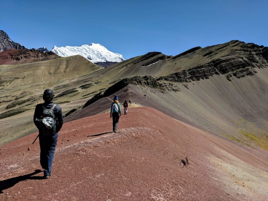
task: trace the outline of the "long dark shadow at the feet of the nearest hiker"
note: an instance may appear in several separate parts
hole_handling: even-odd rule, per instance
[[[35,170],[33,173],[25,174],[18,177],[9,178],[3,181],[0,181],[0,194],[3,193],[3,190],[8,189],[15,184],[19,183],[20,181],[28,180],[28,179],[43,179],[44,177],[41,176],[33,176],[35,174],[38,174],[40,172],[43,172],[42,170]]]

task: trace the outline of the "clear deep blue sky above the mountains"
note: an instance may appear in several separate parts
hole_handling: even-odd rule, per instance
[[[241,40],[268,46],[268,1],[1,1],[0,29],[26,48],[100,43],[125,59]]]

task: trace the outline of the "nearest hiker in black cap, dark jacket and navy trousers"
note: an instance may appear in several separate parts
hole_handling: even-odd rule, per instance
[[[52,102],[54,92],[46,89],[44,103],[36,105],[33,122],[39,130],[40,164],[44,169],[44,178],[49,178],[56,150],[58,132],[63,124],[61,107]]]

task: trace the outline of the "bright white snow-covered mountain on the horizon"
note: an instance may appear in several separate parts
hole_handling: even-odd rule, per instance
[[[121,62],[124,61],[124,57],[121,54],[113,53],[107,50],[101,44],[90,43],[89,45],[82,45],[81,47],[65,46],[56,47],[54,46],[51,50],[55,54],[61,57],[69,57],[73,55],[81,55],[93,63],[96,62]]]

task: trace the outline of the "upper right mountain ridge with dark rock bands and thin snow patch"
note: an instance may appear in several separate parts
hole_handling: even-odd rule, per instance
[[[150,52],[96,72],[95,76],[102,75],[105,80],[116,80],[145,75],[168,76],[184,70],[190,74],[202,71],[204,74],[207,73],[206,76],[231,76],[233,73],[240,76],[243,72],[251,72],[251,68],[267,67],[267,57],[267,47],[232,40],[205,48],[195,47],[176,56]]]

